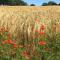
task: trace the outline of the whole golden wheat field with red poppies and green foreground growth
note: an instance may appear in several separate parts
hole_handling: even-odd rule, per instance
[[[60,6],[0,6],[1,60],[60,60]]]

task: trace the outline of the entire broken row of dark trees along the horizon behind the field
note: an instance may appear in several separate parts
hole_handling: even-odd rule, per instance
[[[28,6],[28,4],[26,2],[24,2],[23,0],[0,0],[0,5]],[[48,3],[42,3],[42,6],[50,6],[50,5],[60,5],[60,3],[57,4],[54,1],[49,1]],[[35,4],[30,4],[30,6],[36,6],[36,5]]]

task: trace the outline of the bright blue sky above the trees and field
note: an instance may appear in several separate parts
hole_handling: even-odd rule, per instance
[[[42,5],[42,3],[48,2],[48,1],[54,1],[56,3],[60,2],[60,0],[23,0],[23,1],[27,2],[29,5],[35,4],[36,6],[40,6],[40,5]]]

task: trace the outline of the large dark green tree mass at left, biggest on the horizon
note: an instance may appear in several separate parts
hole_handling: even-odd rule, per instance
[[[27,5],[23,0],[0,0],[0,5]]]

